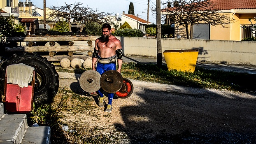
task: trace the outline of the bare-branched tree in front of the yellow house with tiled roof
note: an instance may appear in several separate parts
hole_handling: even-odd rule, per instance
[[[177,27],[186,27],[188,39],[193,38],[193,26],[196,24],[207,23],[212,26],[221,25],[226,28],[226,24],[232,23],[228,14],[220,14],[220,11],[214,8],[212,0],[175,0],[170,3],[174,7],[162,11],[174,15],[170,18],[175,21]]]

